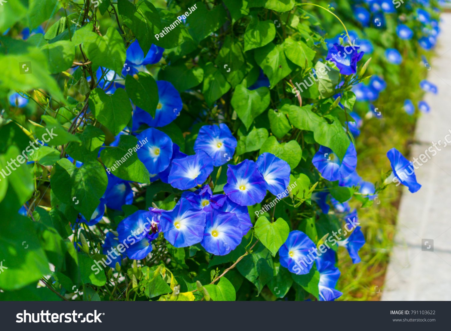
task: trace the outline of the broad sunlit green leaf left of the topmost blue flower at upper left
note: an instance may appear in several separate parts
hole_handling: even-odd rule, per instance
[[[124,68],[125,46],[116,28],[108,28],[103,37],[94,32],[86,32],[82,48],[93,66],[102,66],[116,73]]]

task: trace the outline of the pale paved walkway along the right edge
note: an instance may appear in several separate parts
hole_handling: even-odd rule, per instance
[[[432,142],[441,140],[443,147],[451,133],[451,14],[441,17],[437,58],[428,59],[427,78],[438,94],[424,97],[431,111],[417,123],[410,160]],[[428,152],[432,158],[415,170],[423,187],[413,194],[404,187],[382,300],[451,300],[451,143],[437,147],[442,150]]]

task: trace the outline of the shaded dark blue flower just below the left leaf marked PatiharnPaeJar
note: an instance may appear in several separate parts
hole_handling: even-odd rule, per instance
[[[133,202],[133,191],[130,184],[113,174],[106,173],[108,186],[103,194],[106,200],[106,207],[115,210],[122,210],[123,205],[131,205]]]

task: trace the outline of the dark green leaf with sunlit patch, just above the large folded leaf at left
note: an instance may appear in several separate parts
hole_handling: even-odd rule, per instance
[[[69,143],[66,153],[80,162],[97,160],[100,147],[105,143],[105,133],[95,126],[87,125],[82,133],[75,135],[80,139],[80,143]]]

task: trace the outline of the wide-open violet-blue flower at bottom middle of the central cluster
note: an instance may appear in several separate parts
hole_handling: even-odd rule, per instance
[[[238,217],[234,213],[211,209],[207,211],[207,220],[202,242],[208,253],[226,255],[233,251],[243,237]]]

